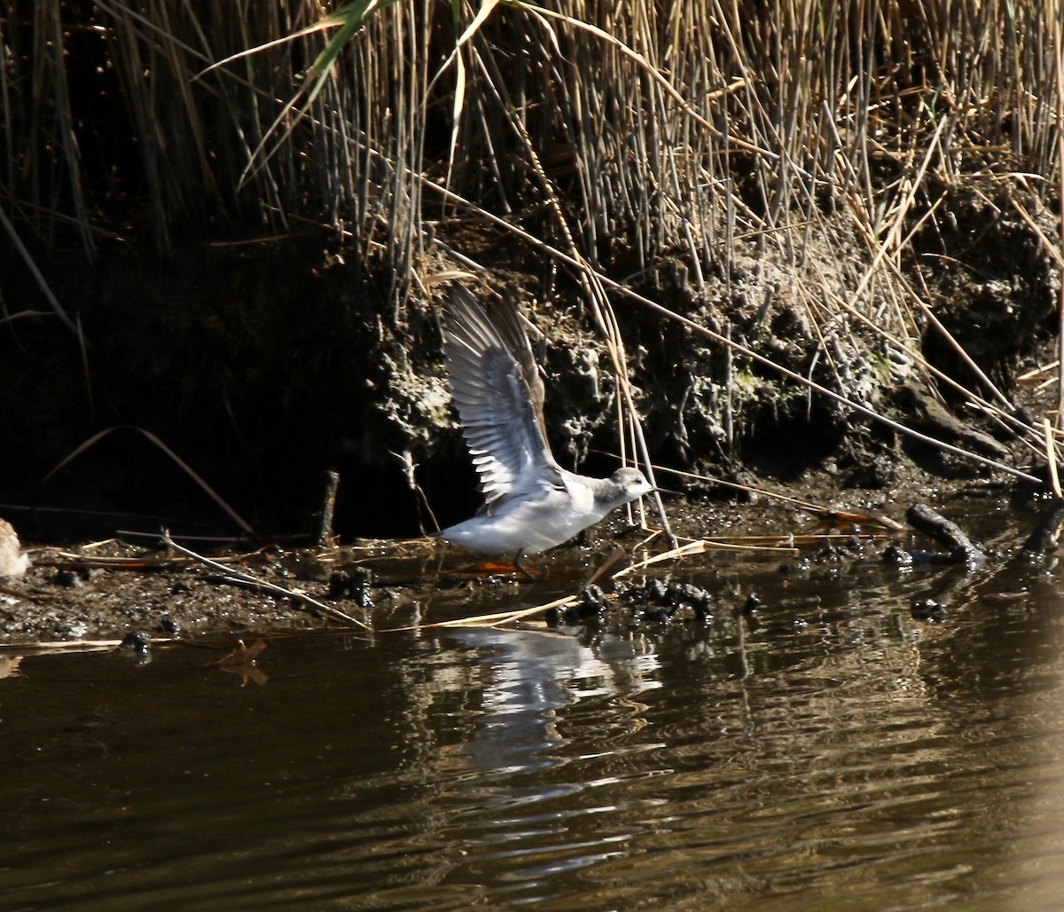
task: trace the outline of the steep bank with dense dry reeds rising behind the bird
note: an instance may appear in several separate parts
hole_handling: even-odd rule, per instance
[[[1013,411],[1057,331],[1036,16],[999,16],[997,55],[897,10],[795,42],[759,4],[695,6],[681,43],[644,28],[662,9],[587,11],[643,35],[637,64],[561,23],[530,40],[500,7],[459,79],[444,7],[350,22],[335,59],[325,32],[292,38],[317,5],[245,12],[15,3],[2,23],[0,516],[26,540],[306,535],[330,469],[343,540],[468,516],[440,270],[526,305],[566,466],[608,474],[619,448],[599,282],[659,464],[795,492],[984,476],[899,427],[1037,459],[1045,388],[1027,431],[968,404]],[[315,61],[335,92],[285,128]]]

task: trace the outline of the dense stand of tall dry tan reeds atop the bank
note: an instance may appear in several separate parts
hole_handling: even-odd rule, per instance
[[[920,354],[925,328],[949,334],[925,291],[934,267],[911,254],[917,230],[944,230],[950,193],[1008,184],[1033,211],[1060,187],[1061,0],[331,10],[12,0],[4,223],[38,248],[72,227],[92,256],[126,226],[165,253],[209,223],[310,219],[394,277],[398,304],[434,237],[453,247],[489,216],[575,275],[620,378],[608,293],[626,280],[603,277],[679,263],[704,295],[752,246],[786,270],[828,392],[851,407],[833,346],[858,346],[859,328],[949,382]],[[827,275],[812,242],[839,225],[864,254]],[[983,379],[974,401],[1007,415]],[[1020,430],[1042,447],[1038,427]]]

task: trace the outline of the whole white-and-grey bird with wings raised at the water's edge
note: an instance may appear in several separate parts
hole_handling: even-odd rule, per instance
[[[444,354],[484,505],[435,537],[482,554],[535,554],[654,490],[634,468],[589,478],[555,462],[544,430],[543,380],[510,299],[488,317],[468,291],[452,286]]]

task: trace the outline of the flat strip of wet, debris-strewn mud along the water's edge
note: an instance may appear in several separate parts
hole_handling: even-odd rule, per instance
[[[389,630],[573,596],[558,610],[537,613],[534,623],[546,619],[582,635],[592,635],[588,626],[604,625],[624,635],[680,631],[689,636],[699,626],[709,629],[742,616],[757,623],[759,593],[765,588],[801,580],[815,590],[816,579],[839,574],[852,576],[859,588],[883,587],[888,600],[912,588],[914,574],[926,577],[927,596],[899,610],[920,621],[941,623],[954,610],[958,586],[969,585],[974,573],[982,588],[993,588],[990,580],[1015,564],[1027,532],[1045,512],[1036,499],[1017,497],[1015,487],[1000,480],[932,486],[926,476],[909,471],[903,488],[847,493],[833,481],[822,474],[811,477],[802,496],[822,498],[839,511],[894,520],[896,528],[871,519],[862,525],[848,515],[817,516],[764,496],[731,505],[674,500],[669,520],[682,541],[711,536],[725,543],[720,550],[600,579],[601,585],[589,591],[595,571],[615,551],[622,553],[612,565],[614,573],[665,550],[661,536],[648,542],[645,530],[629,527],[616,514],[575,542],[537,556],[531,562],[537,577],[533,582],[503,569],[471,570],[475,556],[423,538],[313,549],[225,549],[213,554],[225,570],[157,543],[38,546],[31,547],[33,566],[22,578],[0,580],[0,630],[13,646],[81,640],[114,641],[117,646],[124,640],[126,648],[137,652],[149,642],[171,639],[230,642],[270,631],[328,630],[362,635],[367,632],[362,625]],[[976,523],[976,544],[949,547],[935,541],[933,529],[907,523],[911,501],[903,498],[916,496],[962,527]],[[998,519],[988,523],[991,515]],[[957,557],[958,551],[963,553]],[[1041,560],[1034,556],[1028,562]],[[271,595],[234,582],[231,573],[299,595]]]

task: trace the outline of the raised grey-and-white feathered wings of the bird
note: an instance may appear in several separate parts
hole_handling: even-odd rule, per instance
[[[531,361],[542,403],[543,383],[516,306],[510,300],[501,306],[509,313],[500,310],[497,319],[519,354]],[[460,285],[452,286],[445,314],[447,372],[485,505],[491,508],[514,492],[564,484],[544,436],[536,400],[499,330]]]

